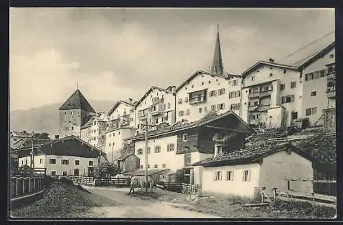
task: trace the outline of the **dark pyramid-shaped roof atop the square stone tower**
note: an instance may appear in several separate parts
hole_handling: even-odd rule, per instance
[[[67,109],[76,109],[81,108],[87,112],[95,112],[91,104],[87,101],[87,99],[82,95],[81,91],[77,89],[69,99],[67,99],[62,106],[60,106],[59,110],[67,110]]]

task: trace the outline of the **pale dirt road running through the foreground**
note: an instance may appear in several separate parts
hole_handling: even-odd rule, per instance
[[[168,202],[159,202],[156,200],[141,200],[137,197],[127,196],[128,189],[108,189],[86,187],[95,196],[102,196],[108,199],[108,204],[100,203],[101,206],[92,209],[94,217],[163,217],[163,218],[219,218],[214,215],[206,215],[196,211],[187,211],[185,209],[176,209]]]

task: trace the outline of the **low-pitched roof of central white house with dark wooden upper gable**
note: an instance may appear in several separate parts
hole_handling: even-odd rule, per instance
[[[255,133],[255,130],[253,130],[246,122],[244,122],[239,116],[235,114],[235,112],[231,110],[228,110],[227,112],[224,112],[219,115],[213,115],[213,116],[210,115],[210,116],[211,117],[207,117],[207,118],[203,117],[202,119],[199,119],[198,121],[193,121],[189,123],[182,123],[182,122],[174,123],[173,126],[166,126],[166,127],[161,128],[161,130],[150,131],[147,133],[147,135],[148,135],[148,138],[159,137],[161,135],[171,134],[174,132],[178,132],[180,130],[188,130],[191,128],[205,126],[207,123],[217,121],[224,117],[234,117],[237,120],[237,122],[241,124],[242,128],[244,129],[244,132],[249,133],[249,134]],[[144,138],[145,138],[145,134],[138,134],[133,137],[128,137],[127,139],[124,139],[124,141],[128,141],[128,140],[139,141],[139,140],[143,140]]]

